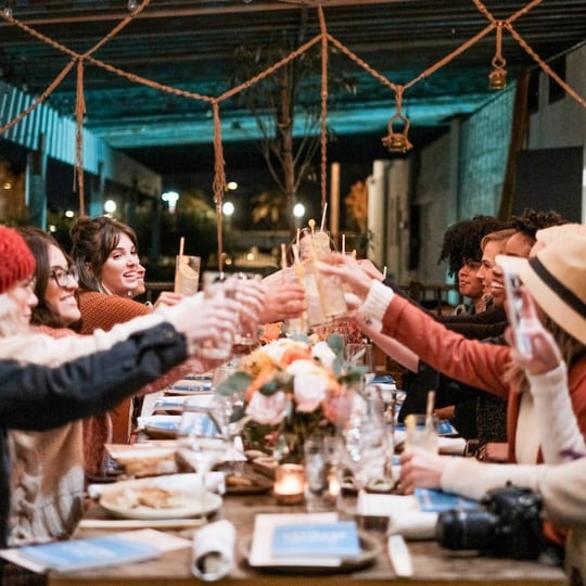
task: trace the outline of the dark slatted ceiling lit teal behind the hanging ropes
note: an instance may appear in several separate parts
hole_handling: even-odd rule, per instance
[[[72,60],[68,51],[84,54],[130,14],[128,0],[0,0],[0,7],[2,1],[23,26],[0,20],[0,79],[34,93],[55,80]],[[533,1],[533,8],[523,11],[527,4],[528,0],[322,0],[324,24],[335,40],[328,43],[331,137],[384,137],[396,112],[395,93],[384,80],[405,85],[426,71],[430,75],[403,98],[415,148],[442,132],[454,117],[481,107],[494,97],[488,74],[496,35],[492,30],[471,40],[491,18],[517,14],[512,26],[525,47],[504,30],[501,56],[509,79],[537,71],[530,52],[555,65],[557,56],[586,39],[586,0]],[[114,148],[139,160],[143,154],[152,166],[157,161],[165,161],[167,170],[174,162],[189,165],[189,153],[209,145],[214,129],[209,102],[192,94],[219,97],[254,71],[255,63],[262,66],[267,55],[277,60],[319,35],[317,5],[311,0],[151,0],[92,53],[100,64],[86,62],[86,126]],[[461,54],[430,69],[466,43],[470,46]],[[239,61],[243,52],[246,58]],[[301,128],[301,112],[320,101],[319,43],[296,61],[314,72],[296,97],[296,133],[302,135],[306,130]],[[306,65],[311,61],[317,69]],[[138,78],[144,82],[136,82]],[[48,103],[73,116],[76,85],[73,67]],[[242,100],[222,102],[219,112],[226,144],[234,149],[255,136],[257,125]],[[310,131],[319,131],[319,124]]]

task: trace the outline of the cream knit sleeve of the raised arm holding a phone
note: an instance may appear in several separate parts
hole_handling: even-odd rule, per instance
[[[568,369],[562,362],[545,374],[530,375],[542,454],[546,463],[561,463],[586,455],[586,443],[578,428],[570,393]],[[565,455],[564,455],[565,453]]]

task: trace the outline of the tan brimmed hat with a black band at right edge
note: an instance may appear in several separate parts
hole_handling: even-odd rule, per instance
[[[528,259],[499,254],[496,263],[517,271],[539,307],[586,344],[586,235],[557,239]]]

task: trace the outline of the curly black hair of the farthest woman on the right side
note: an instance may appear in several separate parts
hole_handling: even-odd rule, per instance
[[[437,264],[447,262],[448,273],[456,275],[467,260],[481,260],[481,241],[486,234],[505,228],[510,228],[510,222],[493,216],[474,216],[453,224],[444,234]]]

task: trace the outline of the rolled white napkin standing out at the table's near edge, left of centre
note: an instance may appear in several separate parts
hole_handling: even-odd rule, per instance
[[[222,519],[205,525],[193,537],[191,573],[205,582],[226,576],[234,561],[234,525]]]

